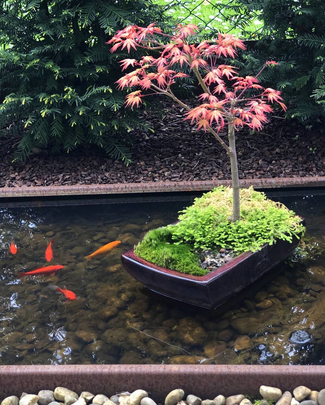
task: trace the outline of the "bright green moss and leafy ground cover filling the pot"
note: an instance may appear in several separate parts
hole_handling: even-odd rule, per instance
[[[198,252],[225,248],[236,254],[261,249],[278,239],[300,238],[300,217],[253,188],[240,193],[240,220],[231,221],[232,190],[220,186],[196,198],[181,211],[177,224],[149,231],[135,246],[135,254],[182,273],[205,275]]]

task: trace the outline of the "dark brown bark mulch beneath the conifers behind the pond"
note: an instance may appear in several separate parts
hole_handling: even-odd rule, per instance
[[[59,156],[36,149],[26,162],[11,163],[19,137],[2,136],[0,187],[230,179],[228,156],[214,137],[193,130],[178,106],[162,107],[167,108],[162,119],[148,117],[154,134],[134,134],[133,163],[128,167],[98,149]],[[227,141],[226,132],[220,136]],[[277,116],[270,117],[260,133],[241,130],[239,178],[323,176],[323,137],[320,124],[305,127]]]

